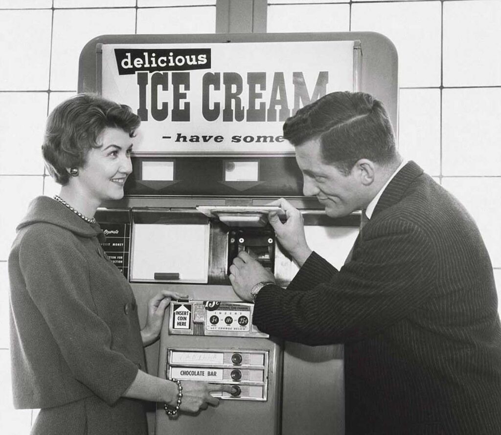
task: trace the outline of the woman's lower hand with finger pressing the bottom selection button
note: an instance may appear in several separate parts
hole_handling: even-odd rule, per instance
[[[219,404],[219,399],[210,395],[211,391],[225,391],[227,393],[233,391],[231,385],[209,384],[200,381],[183,380],[181,381],[181,385],[183,387],[183,396],[179,409],[183,412],[191,413],[198,412],[200,409],[207,409],[209,404],[212,406],[217,406]],[[168,404],[175,407],[176,402],[177,394],[174,395],[173,399]]]

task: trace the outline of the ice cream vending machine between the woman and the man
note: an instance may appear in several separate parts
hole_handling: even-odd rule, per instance
[[[162,288],[172,301],[147,370],[229,384],[195,415],[150,409],[150,433],[344,433],[342,345],[283,342],[253,324],[228,279],[246,251],[287,287],[298,271],[268,223],[270,203],[301,210],[309,245],[341,267],[360,216],[329,218],[302,192],[284,121],[323,95],[364,90],[397,127],[396,52],[375,33],[107,35],[80,57],[79,92],[142,120],[122,200],[98,210],[103,248],[129,280],[140,320]],[[282,216],[282,219],[285,217]]]

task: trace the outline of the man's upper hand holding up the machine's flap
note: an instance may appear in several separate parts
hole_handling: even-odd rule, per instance
[[[268,213],[268,221],[275,230],[280,244],[292,256],[299,267],[303,266],[312,253],[306,243],[303,215],[284,198],[277,199],[270,205],[279,205],[285,211],[287,217],[285,223],[282,223],[275,211]]]

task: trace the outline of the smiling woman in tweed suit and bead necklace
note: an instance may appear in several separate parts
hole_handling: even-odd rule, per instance
[[[164,402],[175,414],[217,405],[210,391],[231,392],[143,371],[143,346],[180,295],[154,297],[140,331],[130,285],[99,244],[93,215],[123,197],[139,124],[128,106],[86,94],[48,118],[42,150],[61,192],[30,204],[9,257],[14,402],[41,408],[32,434],[146,434],[137,399]]]

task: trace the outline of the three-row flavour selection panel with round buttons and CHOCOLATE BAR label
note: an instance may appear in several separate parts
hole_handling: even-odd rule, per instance
[[[214,392],[223,399],[261,400],[268,392],[268,351],[249,349],[169,349],[167,377],[230,384],[232,394]]]

